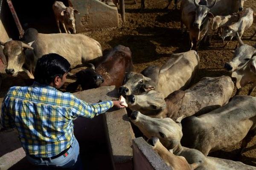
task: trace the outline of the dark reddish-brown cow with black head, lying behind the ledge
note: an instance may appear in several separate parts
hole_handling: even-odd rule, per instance
[[[77,81],[67,86],[67,90],[75,90],[79,84],[83,90],[101,86],[115,85],[119,88],[125,77],[125,72],[132,70],[130,48],[117,45],[102,57],[96,69],[87,68],[76,73]]]

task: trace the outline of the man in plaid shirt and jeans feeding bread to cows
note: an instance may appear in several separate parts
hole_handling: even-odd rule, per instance
[[[66,81],[70,63],[58,54],[37,61],[35,82],[29,87],[12,87],[3,99],[3,127],[17,127],[26,157],[32,164],[81,169],[79,144],[73,119],[93,118],[109,108],[124,108],[122,102],[88,104],[57,89]]]

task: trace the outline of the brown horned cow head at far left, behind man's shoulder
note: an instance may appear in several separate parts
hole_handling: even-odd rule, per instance
[[[7,60],[7,74],[16,76],[19,71],[23,71],[22,66],[26,62],[25,50],[33,50],[34,48],[31,47],[33,42],[29,42],[28,44],[14,40],[5,43],[0,42],[4,46],[3,53]]]

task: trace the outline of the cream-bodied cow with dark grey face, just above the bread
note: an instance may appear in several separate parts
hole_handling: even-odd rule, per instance
[[[126,74],[125,84],[119,88],[119,93],[125,96],[155,89],[166,97],[189,85],[198,63],[199,56],[196,51],[172,54],[161,68],[149,66],[141,73]]]

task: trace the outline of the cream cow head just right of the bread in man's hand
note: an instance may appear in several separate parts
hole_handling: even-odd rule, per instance
[[[129,95],[127,102],[131,110],[140,111],[148,116],[157,115],[166,108],[163,94],[154,90],[141,95]]]

